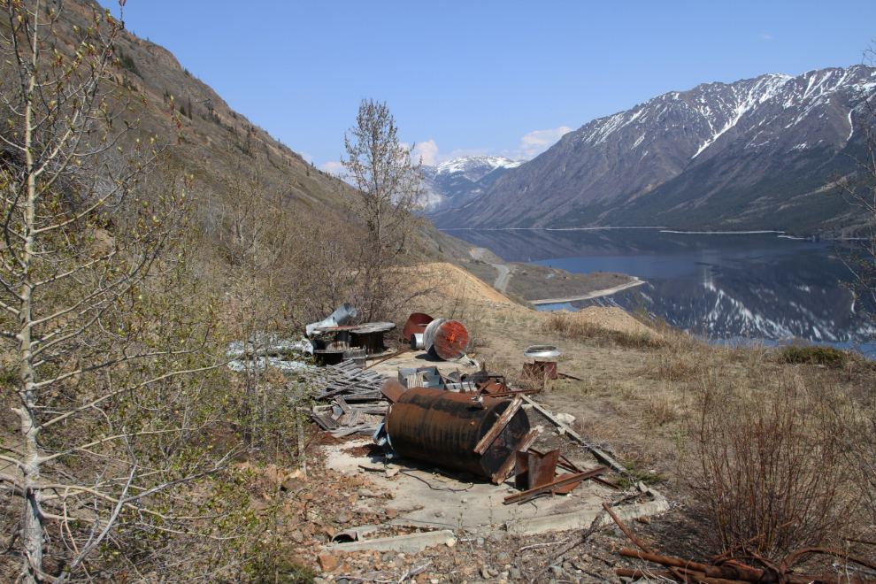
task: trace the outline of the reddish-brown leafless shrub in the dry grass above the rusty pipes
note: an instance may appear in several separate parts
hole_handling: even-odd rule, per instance
[[[818,546],[849,521],[845,446],[824,396],[800,385],[780,373],[757,390],[722,377],[696,388],[679,472],[702,493],[723,549],[762,535],[751,545],[780,557]]]

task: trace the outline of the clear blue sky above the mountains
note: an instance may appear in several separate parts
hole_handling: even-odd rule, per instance
[[[856,65],[876,39],[872,0],[128,0],[124,18],[328,170],[363,97],[426,163],[531,158],[666,91]]]

